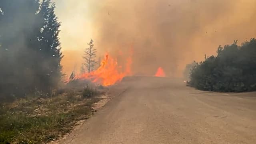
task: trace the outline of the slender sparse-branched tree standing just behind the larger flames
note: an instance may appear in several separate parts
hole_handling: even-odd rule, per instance
[[[90,73],[96,64],[96,61],[95,61],[96,48],[93,47],[94,44],[92,39],[90,40],[88,45],[89,45],[89,48],[86,48],[84,51],[84,56],[83,56],[84,63],[82,64],[81,73],[85,72],[84,70],[85,68],[86,70],[88,70],[88,73]]]

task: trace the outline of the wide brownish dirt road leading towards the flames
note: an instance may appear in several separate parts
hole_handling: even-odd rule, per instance
[[[256,93],[202,92],[133,78],[62,144],[256,144]],[[117,86],[118,87],[118,86]]]

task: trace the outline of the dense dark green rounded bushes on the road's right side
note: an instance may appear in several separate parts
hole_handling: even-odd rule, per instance
[[[219,46],[217,56],[196,63],[190,72],[190,86],[216,92],[256,90],[256,39]]]

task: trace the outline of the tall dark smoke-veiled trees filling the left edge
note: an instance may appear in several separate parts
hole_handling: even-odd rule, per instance
[[[62,53],[54,8],[51,0],[0,0],[0,99],[58,86]]]

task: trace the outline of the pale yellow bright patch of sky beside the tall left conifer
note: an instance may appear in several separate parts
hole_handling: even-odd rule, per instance
[[[63,71],[69,75],[73,70],[80,70],[83,50],[92,38],[90,8],[86,0],[53,1],[56,3],[56,15],[61,22],[59,37],[64,55]]]

